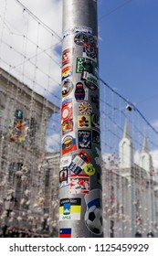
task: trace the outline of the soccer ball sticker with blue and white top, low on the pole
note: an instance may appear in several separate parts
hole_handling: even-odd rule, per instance
[[[85,213],[85,224],[87,228],[95,235],[102,234],[102,208],[101,191],[93,189],[90,194],[85,196],[87,211]]]

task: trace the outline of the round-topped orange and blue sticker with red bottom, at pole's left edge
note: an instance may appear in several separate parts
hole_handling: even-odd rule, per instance
[[[76,139],[74,136],[67,135],[62,141],[62,155],[77,150]]]

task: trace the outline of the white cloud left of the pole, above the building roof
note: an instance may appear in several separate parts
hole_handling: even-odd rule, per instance
[[[62,1],[20,2],[26,9],[16,0],[0,3],[0,67],[44,96],[48,91],[57,93],[61,57],[56,48],[60,41],[53,31],[61,37]]]

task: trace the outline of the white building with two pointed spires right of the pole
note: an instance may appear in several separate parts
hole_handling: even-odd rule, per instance
[[[119,144],[118,165],[104,164],[104,237],[158,237],[158,183],[153,178],[153,160],[144,137],[140,165],[134,163],[134,149],[128,120]]]

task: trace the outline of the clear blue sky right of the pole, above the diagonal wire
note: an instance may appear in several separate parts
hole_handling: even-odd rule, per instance
[[[158,119],[158,1],[99,0],[100,77]]]

